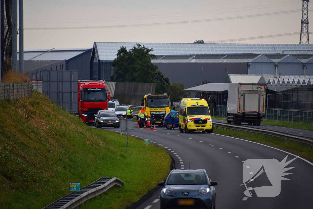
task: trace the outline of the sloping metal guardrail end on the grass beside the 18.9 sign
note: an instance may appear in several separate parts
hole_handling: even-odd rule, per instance
[[[90,185],[84,186],[80,191],[74,191],[65,195],[57,201],[54,201],[43,209],[69,209],[79,206],[83,202],[97,196],[101,195],[103,192],[107,191],[114,185],[121,186],[124,184],[119,178],[105,178],[101,177]],[[86,202],[85,202],[86,203]]]

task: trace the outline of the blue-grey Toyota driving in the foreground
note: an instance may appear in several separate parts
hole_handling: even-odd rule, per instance
[[[165,208],[215,209],[216,181],[211,181],[204,169],[172,170],[163,186],[160,203]]]

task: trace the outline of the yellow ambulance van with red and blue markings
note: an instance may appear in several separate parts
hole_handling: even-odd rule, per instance
[[[213,124],[208,102],[204,99],[182,99],[179,109],[179,131],[212,133]]]

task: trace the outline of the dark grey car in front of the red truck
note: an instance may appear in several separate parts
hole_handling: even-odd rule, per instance
[[[114,127],[120,128],[120,120],[117,118],[115,112],[109,110],[98,111],[95,114],[96,128]]]

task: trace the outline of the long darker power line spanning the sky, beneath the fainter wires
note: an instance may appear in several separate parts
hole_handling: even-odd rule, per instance
[[[252,14],[236,17],[227,18],[214,18],[214,19],[203,19],[203,20],[191,20],[191,21],[179,21],[179,22],[167,22],[167,23],[148,23],[148,24],[133,24],[133,25],[104,25],[104,26],[80,26],[80,27],[54,27],[54,28],[24,28],[24,30],[55,30],[55,29],[97,29],[97,28],[123,28],[123,27],[145,27],[145,26],[157,26],[157,25],[173,25],[173,24],[188,24],[188,23],[201,23],[201,22],[213,22],[213,21],[223,21],[223,20],[233,20],[233,19],[245,19],[254,17],[264,17],[279,14],[296,13],[302,11],[301,9],[282,11],[282,12],[272,12],[263,14]]]

